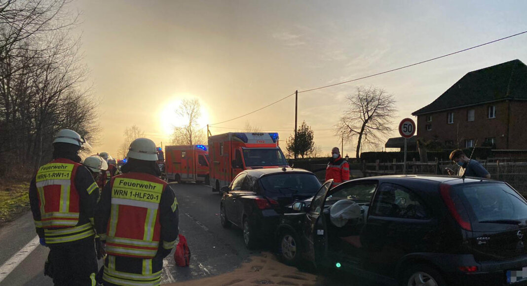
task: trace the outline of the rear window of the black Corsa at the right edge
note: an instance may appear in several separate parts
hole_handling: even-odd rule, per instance
[[[527,220],[527,201],[506,184],[466,184],[454,190],[473,224],[525,224]]]

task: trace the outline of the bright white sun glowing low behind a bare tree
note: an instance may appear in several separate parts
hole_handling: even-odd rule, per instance
[[[179,109],[183,99],[193,98],[191,96],[176,97],[164,104],[159,115],[159,120],[162,126],[163,133],[165,135],[172,135],[175,127],[181,127],[185,124],[188,124],[187,120],[179,116],[175,111]],[[203,126],[206,126],[209,123],[209,112],[206,107],[206,104],[200,101],[200,111],[201,115],[198,119],[198,129]]]

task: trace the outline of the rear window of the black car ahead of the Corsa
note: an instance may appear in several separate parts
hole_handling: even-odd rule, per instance
[[[320,189],[317,176],[309,173],[283,173],[267,175],[260,179],[265,192],[270,196],[290,194],[315,195]]]

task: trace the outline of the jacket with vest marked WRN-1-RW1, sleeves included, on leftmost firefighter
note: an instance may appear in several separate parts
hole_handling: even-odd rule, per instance
[[[58,158],[41,166],[29,197],[36,232],[46,244],[93,239],[99,188],[82,164]]]

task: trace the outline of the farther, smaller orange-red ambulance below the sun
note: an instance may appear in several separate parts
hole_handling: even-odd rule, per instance
[[[209,184],[207,145],[165,146],[164,171],[169,182]]]

